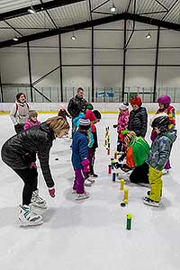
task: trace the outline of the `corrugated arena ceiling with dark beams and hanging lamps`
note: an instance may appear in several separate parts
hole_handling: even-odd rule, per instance
[[[1,0],[0,48],[119,20],[180,31],[180,0]]]

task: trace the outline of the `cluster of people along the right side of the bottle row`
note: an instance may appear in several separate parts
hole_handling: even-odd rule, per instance
[[[130,174],[131,182],[150,184],[151,189],[143,202],[151,206],[159,206],[163,170],[168,173],[171,167],[169,156],[176,139],[175,108],[170,104],[170,96],[166,94],[159,96],[157,103],[159,109],[151,121],[151,148],[144,139],[148,118],[146,109],[141,107],[139,96],[132,97],[130,100],[132,111],[129,120],[127,104],[121,105],[117,125],[119,137],[117,148],[118,150],[121,148],[122,151],[119,161],[121,162],[126,157],[126,163],[116,163],[115,167],[121,167],[125,172],[133,169]]]

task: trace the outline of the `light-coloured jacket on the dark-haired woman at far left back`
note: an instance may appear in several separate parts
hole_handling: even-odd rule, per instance
[[[29,110],[30,108],[28,103],[20,103],[16,101],[10,112],[10,118],[14,122],[14,125],[24,124],[28,120]]]

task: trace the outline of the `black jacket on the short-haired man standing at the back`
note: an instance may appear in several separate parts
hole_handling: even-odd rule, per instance
[[[79,112],[83,112],[85,110],[86,104],[85,98],[79,98],[77,95],[69,100],[67,105],[67,111],[70,113],[72,118],[78,116]]]

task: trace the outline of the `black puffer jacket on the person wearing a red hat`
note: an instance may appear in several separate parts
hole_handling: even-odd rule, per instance
[[[130,112],[128,130],[132,130],[137,136],[145,137],[147,132],[148,113],[146,108],[139,107],[138,110]]]

